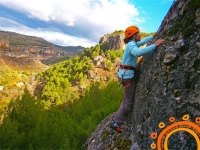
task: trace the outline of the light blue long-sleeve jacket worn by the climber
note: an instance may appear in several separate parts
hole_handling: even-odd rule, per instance
[[[141,41],[138,41],[138,42],[131,40],[126,45],[124,54],[122,56],[121,64],[135,67],[138,57],[140,57],[144,54],[147,54],[147,53],[156,49],[155,44],[152,44],[152,45],[147,46],[145,48],[139,48],[140,46],[146,44],[148,41],[150,41],[152,39],[153,39],[153,36],[146,37],[146,38],[144,38],[144,39],[142,39]],[[130,79],[130,78],[134,77],[134,71],[133,70],[119,69],[117,74],[120,78],[122,78],[122,75],[124,74],[123,79]]]

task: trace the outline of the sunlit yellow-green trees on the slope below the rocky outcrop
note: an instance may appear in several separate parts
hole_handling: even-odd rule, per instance
[[[91,59],[99,55],[105,55],[105,65],[109,71],[113,69],[113,62],[117,57],[121,58],[123,50],[108,50],[104,52],[101,44],[86,48],[80,55],[63,62],[52,65],[37,79],[45,82],[42,90],[42,102],[45,108],[59,106],[73,102],[80,97],[77,86],[90,84],[88,70],[94,68]],[[75,87],[76,86],[76,87]],[[84,95],[84,91],[82,93]]]

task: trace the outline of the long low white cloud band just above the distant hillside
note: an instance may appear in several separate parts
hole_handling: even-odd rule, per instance
[[[15,21],[0,17],[0,30],[4,31],[12,31],[21,33],[24,35],[31,35],[36,37],[41,37],[51,43],[62,45],[62,46],[84,46],[84,47],[90,47],[94,46],[95,43],[85,39],[85,38],[78,38],[75,36],[70,36],[67,34],[64,34],[62,32],[54,31],[54,29],[34,29],[29,28],[23,24],[17,23]]]

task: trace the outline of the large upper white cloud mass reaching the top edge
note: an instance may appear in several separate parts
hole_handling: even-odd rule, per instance
[[[96,40],[104,34],[145,22],[129,0],[1,0],[0,4],[30,18],[81,28]]]

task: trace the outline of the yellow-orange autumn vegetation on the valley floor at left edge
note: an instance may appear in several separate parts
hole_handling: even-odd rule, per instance
[[[33,92],[35,74],[45,70],[42,65],[31,66],[30,69],[13,68],[14,66],[4,63],[0,66],[0,86],[3,86],[3,90],[0,91],[0,120],[4,118],[9,103],[21,96],[25,87]]]

